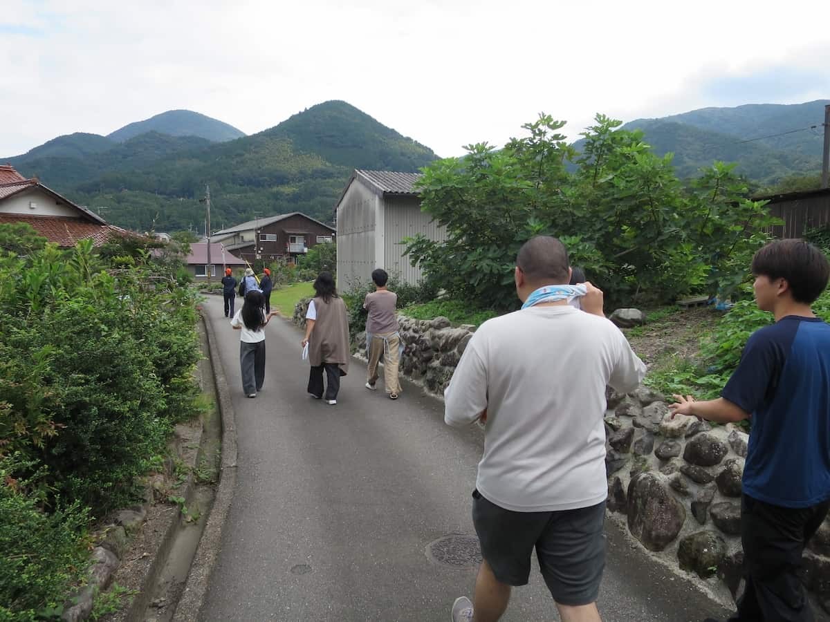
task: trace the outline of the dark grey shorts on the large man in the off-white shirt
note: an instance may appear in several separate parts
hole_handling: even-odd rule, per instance
[[[525,586],[536,549],[550,594],[561,605],[597,600],[605,567],[605,502],[560,512],[512,512],[472,493],[472,522],[481,555],[496,579]]]

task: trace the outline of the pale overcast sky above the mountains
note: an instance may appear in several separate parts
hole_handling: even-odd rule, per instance
[[[541,111],[578,138],[597,112],[830,98],[826,0],[0,5],[0,157],[180,108],[253,134],[346,100],[446,157]]]

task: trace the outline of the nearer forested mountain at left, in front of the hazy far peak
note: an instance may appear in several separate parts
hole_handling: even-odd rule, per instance
[[[44,147],[6,161],[81,205],[107,207],[107,220],[139,231],[203,231],[198,199],[207,184],[214,229],[288,211],[331,221],[354,168],[415,172],[437,158],[343,101],[223,143],[149,132],[96,153],[41,155]]]

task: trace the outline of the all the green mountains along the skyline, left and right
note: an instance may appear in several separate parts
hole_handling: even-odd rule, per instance
[[[623,128],[642,129],[659,155],[674,153],[680,177],[718,159],[739,163],[738,173],[769,187],[782,177],[818,173],[828,103],[706,108]],[[328,101],[250,136],[203,114],[170,110],[107,136],[54,138],[0,163],[39,177],[114,224],[201,232],[198,199],[207,185],[215,229],[288,211],[328,222],[354,168],[415,172],[436,158],[354,106]]]

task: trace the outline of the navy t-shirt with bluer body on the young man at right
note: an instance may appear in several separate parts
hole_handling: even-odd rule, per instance
[[[756,331],[720,395],[752,414],[746,494],[785,508],[830,498],[830,325],[788,315]]]

